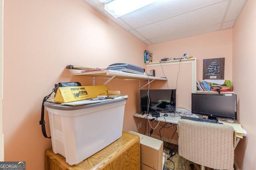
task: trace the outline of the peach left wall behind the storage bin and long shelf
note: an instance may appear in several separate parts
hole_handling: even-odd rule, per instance
[[[43,137],[39,125],[44,96],[58,82],[92,85],[92,78],[72,76],[77,71],[65,69],[66,65],[106,68],[127,62],[144,66],[146,48],[146,44],[82,0],[6,0],[5,161],[26,161],[28,170],[44,169],[44,151],[51,147],[51,140]],[[102,81],[96,79],[96,84]],[[138,101],[138,80],[113,80],[107,86],[128,94],[123,130],[136,131],[132,114]],[[46,113],[49,134],[47,117]]]

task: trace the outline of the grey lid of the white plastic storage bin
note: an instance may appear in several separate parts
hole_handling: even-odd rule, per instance
[[[84,104],[84,105],[79,105],[79,106],[68,106],[64,104],[59,104],[55,102],[44,102],[44,106],[51,108],[51,109],[57,109],[57,110],[78,110],[78,109],[86,109],[90,107],[97,107],[97,106],[102,106],[106,104],[112,104],[112,103],[117,103],[117,102],[124,102],[126,101],[127,98],[124,99],[117,99],[117,100],[108,100],[105,102],[99,102],[99,103],[94,103],[94,104]]]

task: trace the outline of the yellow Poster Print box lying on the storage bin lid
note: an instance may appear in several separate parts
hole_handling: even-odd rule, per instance
[[[59,87],[54,96],[54,102],[75,102],[88,98],[96,98],[99,95],[108,95],[108,87],[105,85]]]

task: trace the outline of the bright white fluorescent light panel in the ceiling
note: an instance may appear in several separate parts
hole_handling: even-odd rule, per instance
[[[152,4],[157,0],[113,0],[105,4],[105,10],[115,18]]]

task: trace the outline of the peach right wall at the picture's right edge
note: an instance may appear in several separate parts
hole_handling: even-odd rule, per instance
[[[256,1],[248,0],[233,28],[233,82],[238,94],[240,123],[247,132],[235,150],[238,169],[256,167],[256,133],[254,113],[254,84],[256,84]],[[248,84],[248,86],[247,86]]]

